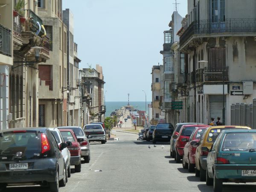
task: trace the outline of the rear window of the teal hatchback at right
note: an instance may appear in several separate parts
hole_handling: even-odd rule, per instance
[[[222,151],[249,151],[256,149],[256,133],[228,133]]]

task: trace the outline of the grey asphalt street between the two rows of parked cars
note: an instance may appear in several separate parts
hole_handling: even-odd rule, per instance
[[[80,173],[73,173],[60,192],[211,192],[212,186],[200,182],[194,173],[169,157],[169,144],[137,141],[136,134],[115,131],[118,141],[90,143],[90,163],[83,163]],[[151,148],[148,148],[150,145]],[[161,146],[164,146],[162,148]],[[223,192],[253,192],[254,184],[224,183]],[[12,187],[8,192],[48,192],[41,187]]]

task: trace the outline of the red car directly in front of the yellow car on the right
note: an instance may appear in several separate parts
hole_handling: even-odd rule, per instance
[[[204,131],[209,126],[198,126],[192,133],[189,139],[183,139],[186,143],[183,151],[184,155],[182,158],[182,166],[184,169],[189,169],[189,172],[195,171],[195,150],[197,148],[196,143],[199,142],[200,138],[204,134]]]

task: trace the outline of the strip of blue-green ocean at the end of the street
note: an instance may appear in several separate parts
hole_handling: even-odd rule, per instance
[[[106,104],[106,113],[105,116],[110,116],[110,114],[116,109],[120,109],[123,106],[128,105],[128,102],[105,102]],[[131,106],[134,106],[136,109],[136,105],[138,105],[137,109],[141,111],[145,111],[145,102],[129,102]],[[148,113],[148,104],[151,102],[147,102],[147,112]]]

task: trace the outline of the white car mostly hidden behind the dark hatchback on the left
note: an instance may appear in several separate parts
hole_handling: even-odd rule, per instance
[[[60,146],[61,143],[65,143],[61,132],[57,128],[49,128],[50,131],[53,134],[53,137],[55,138],[56,142]],[[66,172],[66,183],[67,183],[67,177],[71,177],[71,171],[70,171],[70,151],[66,148],[61,150],[61,154],[65,160],[65,166],[67,167],[67,172]]]

